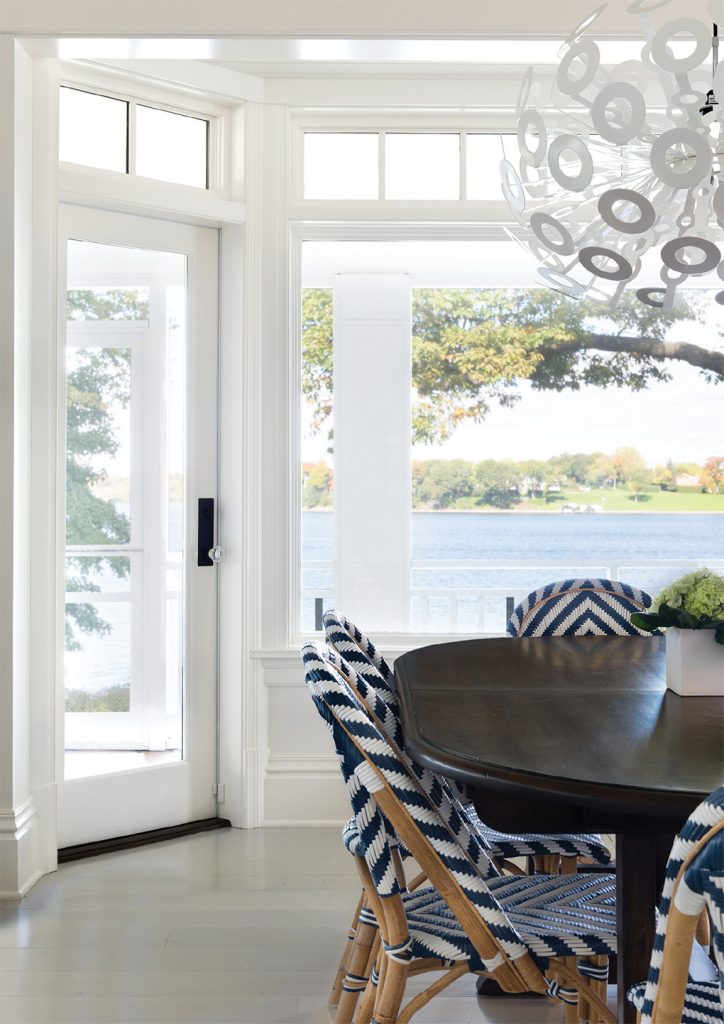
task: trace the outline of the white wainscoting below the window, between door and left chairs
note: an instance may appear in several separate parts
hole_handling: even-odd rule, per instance
[[[349,803],[332,737],[304,683],[297,651],[262,653],[268,757],[263,825],[342,825]]]

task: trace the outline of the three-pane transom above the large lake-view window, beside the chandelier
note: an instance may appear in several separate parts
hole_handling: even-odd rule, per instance
[[[305,131],[305,200],[500,200],[512,134]]]

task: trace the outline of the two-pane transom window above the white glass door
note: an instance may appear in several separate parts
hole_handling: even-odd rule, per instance
[[[208,118],[60,87],[59,158],[100,170],[209,187]]]

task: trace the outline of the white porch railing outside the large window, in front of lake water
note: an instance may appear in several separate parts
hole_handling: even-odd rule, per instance
[[[699,568],[705,560],[690,558],[616,559],[615,562],[569,562],[538,560],[516,561],[506,559],[413,560],[410,589],[410,631],[413,633],[503,633],[512,608],[531,590],[552,580],[571,577],[601,577],[622,580],[655,594],[672,580],[684,572]],[[724,559],[706,559],[706,564],[716,571],[724,571]],[[315,623],[315,601],[322,607],[334,604],[333,562],[310,561],[302,564],[302,580],[308,579],[307,570],[324,572],[327,586],[305,586],[302,590],[302,630],[310,632]],[[488,572],[500,577],[484,586],[422,586],[416,575],[423,572],[457,573]],[[320,605],[316,605],[320,610]],[[317,616],[318,617],[318,616]]]

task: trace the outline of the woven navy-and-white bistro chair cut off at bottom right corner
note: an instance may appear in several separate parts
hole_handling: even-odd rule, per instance
[[[719,983],[688,981],[701,911]],[[724,1024],[724,786],[699,804],[672,847],[648,980],[628,991],[641,1024]]]

